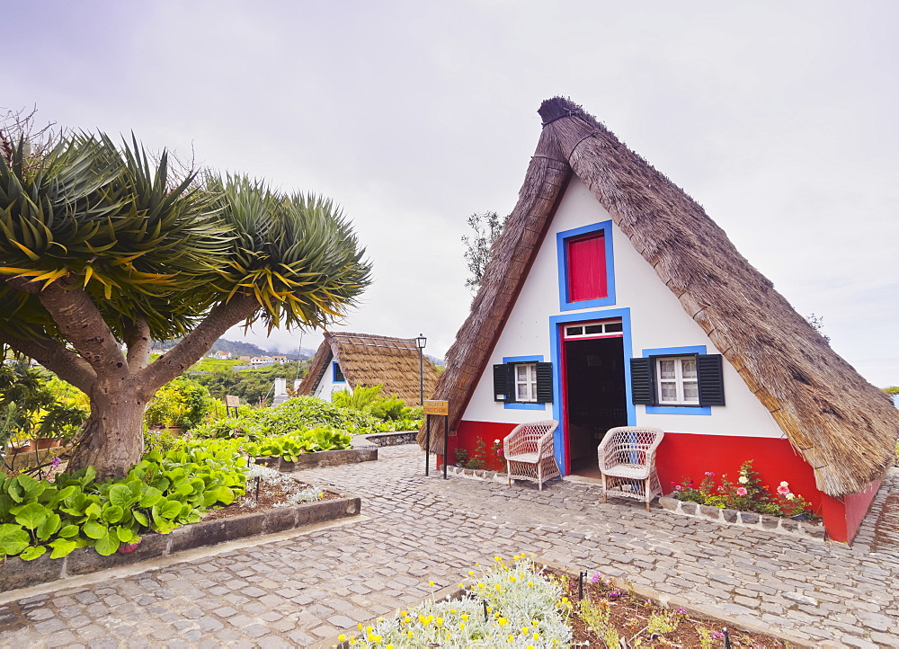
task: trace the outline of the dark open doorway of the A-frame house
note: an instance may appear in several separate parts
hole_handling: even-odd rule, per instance
[[[572,473],[596,469],[610,428],[628,425],[622,339],[565,341],[565,428]]]

